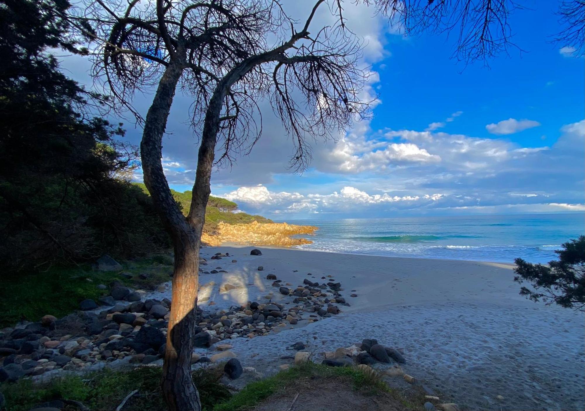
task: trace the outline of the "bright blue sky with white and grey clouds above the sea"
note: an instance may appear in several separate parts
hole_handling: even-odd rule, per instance
[[[524,2],[511,16],[510,49],[464,66],[450,59],[453,39],[395,34],[381,16],[346,5],[348,26],[367,42],[362,64],[378,96],[373,118],[314,142],[303,175],[287,169],[292,151],[280,121],[263,109],[264,133],[250,156],[212,176],[212,194],[277,220],[583,212],[584,67],[582,57],[549,42],[559,31],[556,2]],[[311,1],[294,2],[302,17]],[[325,9],[313,24],[331,19]],[[87,83],[87,62],[64,59]],[[146,113],[152,93],[135,102]],[[190,97],[178,95],[164,139],[170,186],[191,189],[197,142],[185,123]],[[127,121],[128,138],[140,130]],[[136,179],[142,176],[137,173]]]

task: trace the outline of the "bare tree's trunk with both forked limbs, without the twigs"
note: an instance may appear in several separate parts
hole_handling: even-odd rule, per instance
[[[205,208],[211,193],[211,169],[214,163],[222,101],[233,83],[256,62],[265,59],[266,57],[262,56],[260,59],[246,60],[245,64],[233,69],[216,85],[205,114],[191,207],[186,219],[168,188],[161,162],[162,138],[175,89],[181,77],[180,64],[171,62],[168,65],[144,122],[144,133],[140,143],[144,184],[171,235],[175,251],[173,300],[168,321],[162,385],[170,411],[201,411],[199,393],[191,378],[191,355],[197,315],[199,246],[205,223]]]

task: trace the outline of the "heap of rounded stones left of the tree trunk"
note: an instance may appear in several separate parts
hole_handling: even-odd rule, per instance
[[[0,333],[0,382],[135,354],[141,354],[143,364],[152,362],[164,353],[170,304],[168,299],[118,302],[99,314],[81,312],[59,320],[44,316],[25,328]]]

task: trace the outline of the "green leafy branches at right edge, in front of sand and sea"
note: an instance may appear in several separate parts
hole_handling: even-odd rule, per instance
[[[542,299],[547,304],[555,302],[565,308],[585,311],[585,235],[562,247],[555,250],[559,260],[550,261],[548,266],[515,259],[514,281],[518,284],[528,281],[532,285],[533,290],[527,287],[520,290],[520,295],[532,301]]]

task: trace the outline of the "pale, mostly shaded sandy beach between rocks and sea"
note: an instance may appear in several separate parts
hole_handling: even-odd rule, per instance
[[[585,316],[518,295],[511,264],[407,259],[252,247],[204,248],[199,306],[216,311],[247,301],[290,304],[266,280],[331,275],[351,306],[331,318],[307,319],[279,333],[232,340],[245,367],[278,370],[295,342],[315,339],[317,352],[376,338],[402,350],[402,369],[426,388],[469,410],[585,409]],[[216,252],[230,257],[209,260]],[[232,259],[238,262],[232,263]],[[257,267],[263,266],[263,271]],[[311,273],[311,276],[307,274]],[[315,280],[314,280],[315,281]],[[322,280],[321,280],[322,281]],[[236,288],[219,292],[222,284]],[[355,290],[357,297],[349,297]],[[168,296],[170,290],[150,297]],[[271,294],[271,295],[270,295]],[[210,303],[213,303],[210,305]],[[198,349],[204,355],[207,350]],[[497,396],[503,396],[498,400]]]

